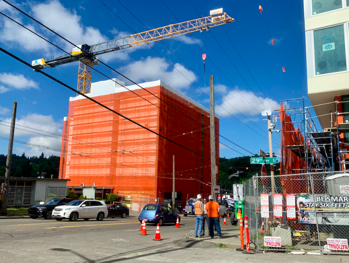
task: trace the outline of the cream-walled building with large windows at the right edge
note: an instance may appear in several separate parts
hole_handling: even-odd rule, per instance
[[[323,153],[342,170],[349,158],[349,0],[304,0],[304,20],[308,96],[327,132],[316,136],[328,138],[332,147]]]

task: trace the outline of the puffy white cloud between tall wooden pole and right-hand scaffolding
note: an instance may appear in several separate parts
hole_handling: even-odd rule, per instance
[[[216,106],[216,113],[222,117],[230,116],[229,113],[233,115],[239,114],[239,112],[244,115],[254,116],[260,115],[261,110],[264,108],[279,109],[279,103],[270,98],[257,97],[252,91],[233,90],[228,92],[224,99],[221,107]]]

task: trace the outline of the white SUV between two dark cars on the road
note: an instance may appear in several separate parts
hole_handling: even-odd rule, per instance
[[[62,219],[76,221],[78,218],[83,218],[85,221],[96,218],[102,221],[107,216],[107,205],[98,200],[74,200],[66,205],[56,206],[52,211],[52,217],[58,221]]]

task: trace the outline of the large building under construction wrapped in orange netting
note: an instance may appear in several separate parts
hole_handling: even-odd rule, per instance
[[[64,118],[59,178],[70,179],[77,193],[91,186],[95,197],[114,192],[169,199],[175,156],[177,206],[198,193],[209,195],[209,110],[160,80],[124,86],[117,79],[93,83],[87,96],[179,145],[78,95]],[[215,123],[218,135],[217,116]]]

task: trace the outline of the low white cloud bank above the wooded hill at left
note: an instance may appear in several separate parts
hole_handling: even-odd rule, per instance
[[[1,109],[0,109],[1,110]],[[0,122],[0,135],[9,135],[10,133],[10,123],[11,118],[4,119],[5,122]],[[18,126],[17,126],[18,125]],[[21,127],[19,125],[25,126]],[[31,127],[37,130],[29,129],[26,127]],[[19,129],[18,129],[19,128]],[[21,129],[21,130],[20,130]],[[39,130],[39,131],[38,131]],[[62,134],[62,123],[61,122],[55,122],[53,117],[51,115],[41,115],[41,114],[28,114],[27,116],[23,116],[21,119],[16,119],[16,129],[15,129],[15,139],[18,139],[19,136],[21,136],[21,140],[25,142],[29,142],[32,144],[45,146],[49,148],[54,149],[60,149],[62,139],[58,135],[48,134],[46,132],[55,133],[55,134]],[[43,136],[41,134],[47,134],[49,136],[57,137],[48,137]],[[25,147],[25,148],[23,148]],[[15,148],[15,151],[17,151],[18,154],[22,154],[23,152],[26,153],[26,156],[39,156],[42,152],[46,156],[48,155],[60,155],[60,152],[41,148],[41,147],[35,147],[35,146],[29,146],[26,144],[23,144],[22,147]]]

